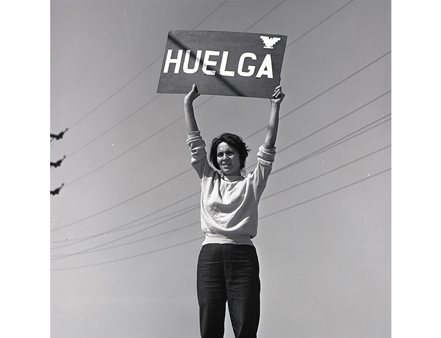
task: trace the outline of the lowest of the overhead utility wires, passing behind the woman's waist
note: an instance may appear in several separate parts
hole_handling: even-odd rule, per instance
[[[341,191],[341,190],[343,190],[343,189],[349,188],[349,187],[351,187],[351,186],[354,186],[354,185],[359,184],[359,183],[361,183],[361,182],[364,182],[364,181],[366,181],[366,180],[369,180],[369,179],[372,179],[372,178],[377,177],[377,176],[379,176],[379,175],[382,175],[382,174],[384,174],[384,173],[386,173],[386,172],[388,172],[388,171],[390,171],[390,170],[391,170],[391,168],[388,168],[388,169],[386,169],[386,170],[383,170],[383,171],[380,171],[380,172],[378,172],[378,173],[376,173],[376,174],[373,174],[372,176],[365,177],[365,178],[363,178],[363,179],[361,179],[361,180],[358,180],[358,181],[356,181],[356,182],[350,183],[350,184],[345,185],[345,186],[343,186],[343,187],[340,187],[340,188],[334,189],[334,190],[332,190],[332,191],[330,191],[330,192],[327,192],[327,193],[325,193],[325,194],[322,194],[322,195],[316,196],[316,197],[314,197],[314,198],[311,198],[311,199],[309,199],[309,200],[303,201],[303,202],[301,202],[301,203],[297,203],[297,204],[291,205],[291,206],[289,206],[289,207],[287,207],[287,208],[283,208],[283,209],[278,210],[278,211],[275,211],[275,212],[273,212],[273,213],[271,213],[271,214],[267,214],[267,215],[265,215],[265,216],[260,217],[259,219],[263,219],[263,218],[267,218],[267,217],[270,217],[270,216],[274,216],[275,214],[278,214],[278,213],[284,212],[284,211],[286,211],[286,210],[289,210],[289,209],[292,209],[292,208],[298,207],[298,206],[300,206],[300,205],[303,205],[303,204],[306,204],[306,203],[312,202],[312,201],[317,200],[317,199],[319,199],[319,198],[325,197],[325,196],[327,196],[327,195],[333,194],[333,193],[335,193],[335,192]],[[72,266],[72,267],[54,268],[54,269],[51,269],[51,270],[52,270],[52,271],[59,271],[59,270],[73,270],[73,269],[80,269],[80,268],[85,268],[85,267],[92,267],[92,266],[98,266],[98,265],[103,265],[103,264],[115,263],[115,262],[119,262],[119,261],[122,261],[122,260],[127,260],[127,259],[132,259],[132,258],[136,258],[136,257],[140,257],[140,256],[145,256],[145,255],[148,255],[148,254],[151,254],[151,253],[154,253],[154,252],[167,250],[167,249],[170,249],[170,248],[173,248],[173,247],[176,247],[176,246],[180,246],[180,245],[184,245],[184,244],[187,244],[187,243],[194,242],[194,241],[196,241],[196,240],[202,240],[203,238],[204,238],[204,237],[193,238],[193,239],[190,239],[190,240],[185,241],[185,242],[182,242],[182,243],[177,243],[177,244],[170,245],[170,246],[167,246],[167,247],[164,247],[164,248],[160,248],[160,249],[156,249],[156,250],[152,250],[152,251],[143,252],[143,253],[139,253],[139,254],[136,254],[136,255],[128,256],[128,257],[123,257],[123,258],[118,258],[118,259],[108,260],[108,261],[99,262],[99,263],[87,264],[87,265],[79,265],[79,266]]]

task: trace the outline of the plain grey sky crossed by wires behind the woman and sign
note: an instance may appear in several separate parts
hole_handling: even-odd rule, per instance
[[[389,336],[391,41],[384,1],[51,3],[51,336],[195,337],[199,184],[169,30],[288,36],[254,239],[260,337]],[[206,102],[206,103],[205,103]],[[204,139],[265,139],[268,99],[201,96]],[[250,169],[249,169],[250,171]],[[226,337],[233,337],[227,318]]]

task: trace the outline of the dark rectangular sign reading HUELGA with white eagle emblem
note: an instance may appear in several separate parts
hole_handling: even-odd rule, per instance
[[[158,93],[271,98],[280,84],[287,36],[170,31]]]

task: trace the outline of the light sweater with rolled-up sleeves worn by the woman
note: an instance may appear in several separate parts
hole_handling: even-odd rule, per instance
[[[191,165],[201,185],[200,226],[205,234],[202,245],[248,244],[257,235],[258,203],[271,172],[276,148],[259,148],[258,164],[252,173],[223,176],[208,163],[200,132],[188,134]]]

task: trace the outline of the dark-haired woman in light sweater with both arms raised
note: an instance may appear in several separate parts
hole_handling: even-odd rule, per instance
[[[184,98],[191,165],[201,184],[200,221],[205,240],[197,263],[197,298],[202,338],[224,336],[226,302],[236,338],[256,337],[260,317],[259,262],[251,241],[257,234],[258,203],[276,153],[279,110],[285,94],[274,90],[265,144],[256,169],[241,175],[249,150],[241,137],[213,139],[208,163],[205,142],[194,118],[196,85]]]

